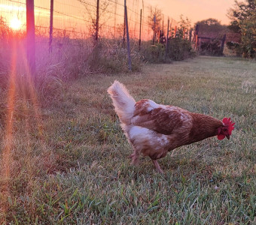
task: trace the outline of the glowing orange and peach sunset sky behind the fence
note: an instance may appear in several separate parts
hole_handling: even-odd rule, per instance
[[[95,13],[96,0],[84,0],[87,5],[93,6]],[[101,0],[102,1],[102,0]],[[108,23],[102,26],[102,33],[116,33],[120,25],[123,24],[123,0],[108,0],[112,4],[107,10]],[[145,10],[143,17],[148,18],[151,7],[157,7],[162,10],[165,15],[164,21],[166,26],[166,16],[174,19],[176,22],[180,21],[180,15],[187,17],[191,21],[191,26],[200,20],[206,20],[209,18],[217,19],[221,21],[221,24],[229,24],[230,20],[227,17],[227,11],[234,7],[235,0],[127,0],[128,15],[130,28],[132,30],[133,37],[139,35],[139,11]],[[118,2],[116,5],[116,13],[114,13],[114,2]],[[49,27],[50,17],[50,0],[35,0],[35,25],[42,28],[42,31],[47,32]],[[112,7],[112,8],[111,8]],[[0,0],[0,15],[3,15],[9,26],[14,30],[26,28],[26,0]],[[114,16],[115,15],[115,16]],[[107,17],[108,17],[107,16]],[[82,35],[88,33],[87,23],[90,25],[90,13],[86,10],[84,5],[81,5],[79,0],[54,0],[54,20],[53,26],[60,30],[66,30],[75,34]],[[142,23],[148,24],[147,20],[143,20]],[[101,19],[102,20],[102,19]],[[113,27],[116,25],[117,29]],[[173,23],[172,26],[176,24]],[[105,30],[103,31],[103,28]],[[150,26],[142,26],[144,29],[143,35],[148,37],[150,35]],[[120,32],[123,34],[123,30],[120,28]],[[88,33],[89,34],[89,33]],[[142,36],[143,36],[142,35]],[[143,37],[142,37],[143,38]]]

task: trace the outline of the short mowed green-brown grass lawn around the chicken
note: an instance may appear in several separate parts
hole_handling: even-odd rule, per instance
[[[149,98],[236,122],[216,137],[159,160],[130,163],[132,148],[106,90],[114,80]],[[93,74],[59,95],[14,111],[0,217],[11,224],[256,224],[256,64],[198,57],[145,65],[138,74]],[[182,137],[181,137],[182,138]]]

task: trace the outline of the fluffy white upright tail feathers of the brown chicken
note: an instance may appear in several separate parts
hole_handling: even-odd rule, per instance
[[[126,87],[117,80],[108,88],[108,94],[113,101],[114,110],[123,124],[130,124],[135,110],[136,101]]]

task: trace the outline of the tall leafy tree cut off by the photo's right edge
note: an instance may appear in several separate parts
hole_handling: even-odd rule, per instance
[[[230,9],[232,20],[230,30],[241,35],[241,43],[236,51],[241,51],[247,58],[256,58],[256,0],[235,1]]]

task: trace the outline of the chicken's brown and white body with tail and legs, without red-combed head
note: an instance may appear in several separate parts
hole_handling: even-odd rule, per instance
[[[224,123],[209,115],[190,113],[179,107],[156,104],[143,99],[136,102],[126,88],[114,81],[108,93],[120,118],[121,127],[133,145],[133,163],[139,154],[151,157],[159,172],[157,159],[181,145],[198,142],[219,134]]]

